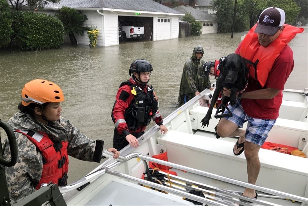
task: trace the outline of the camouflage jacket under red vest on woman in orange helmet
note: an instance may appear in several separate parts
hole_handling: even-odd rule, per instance
[[[44,125],[29,114],[19,111],[8,121],[13,130],[32,130],[47,133],[56,141],[68,141],[68,155],[84,161],[93,161],[95,141],[81,134],[79,129],[67,119],[60,117],[58,121]],[[24,135],[15,132],[18,145],[18,161],[14,167],[6,167],[6,180],[10,198],[14,201],[25,198],[35,191],[41,179],[43,160],[36,146]],[[10,146],[7,139],[3,142],[5,159],[10,159]]]

